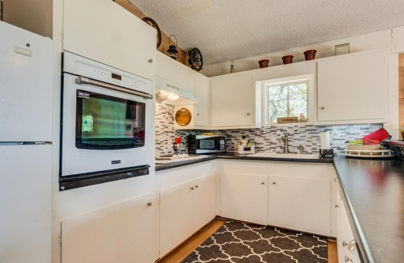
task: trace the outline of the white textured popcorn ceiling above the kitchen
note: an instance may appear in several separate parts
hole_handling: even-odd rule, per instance
[[[130,0],[204,64],[404,25],[403,0]]]

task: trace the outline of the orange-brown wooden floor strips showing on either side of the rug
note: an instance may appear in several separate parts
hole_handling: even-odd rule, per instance
[[[208,239],[213,233],[216,232],[225,220],[216,218],[214,221],[206,225],[203,229],[195,233],[183,244],[174,249],[167,256],[159,259],[158,263],[180,263],[187,255],[192,253],[195,248]],[[337,243],[328,241],[328,263],[338,263],[337,258]]]

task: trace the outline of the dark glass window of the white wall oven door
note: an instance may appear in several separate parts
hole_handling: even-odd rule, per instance
[[[119,150],[144,146],[145,104],[77,90],[76,148]]]

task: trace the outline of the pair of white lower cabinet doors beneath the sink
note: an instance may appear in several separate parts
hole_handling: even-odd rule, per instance
[[[331,236],[331,182],[288,176],[221,174],[221,216]]]

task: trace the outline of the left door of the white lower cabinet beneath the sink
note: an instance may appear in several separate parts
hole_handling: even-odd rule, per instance
[[[221,174],[221,216],[267,225],[266,176]]]

